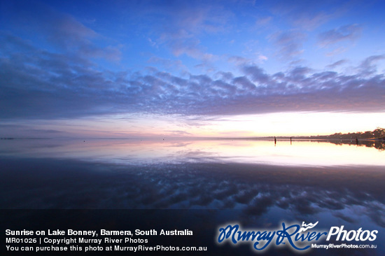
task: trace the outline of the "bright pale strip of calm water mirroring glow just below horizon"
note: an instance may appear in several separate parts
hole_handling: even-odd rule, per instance
[[[336,144],[337,143],[337,144]],[[385,166],[377,142],[222,140],[1,140],[0,155],[148,164],[237,162],[281,166]],[[384,144],[382,144],[384,145]]]

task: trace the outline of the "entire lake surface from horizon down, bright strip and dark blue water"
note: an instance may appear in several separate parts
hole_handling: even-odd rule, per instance
[[[0,163],[7,218],[31,209],[158,209],[161,222],[199,213],[205,221],[190,224],[210,232],[228,222],[271,228],[318,221],[323,229],[378,230],[368,243],[378,248],[314,255],[385,253],[385,151],[377,142],[15,139],[0,141]],[[250,246],[234,250],[253,255]]]

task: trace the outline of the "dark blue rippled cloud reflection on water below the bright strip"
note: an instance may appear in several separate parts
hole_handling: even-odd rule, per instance
[[[239,209],[246,218],[332,213],[385,227],[385,173],[375,167],[120,165],[1,159],[3,208]],[[347,215],[346,211],[353,211]]]

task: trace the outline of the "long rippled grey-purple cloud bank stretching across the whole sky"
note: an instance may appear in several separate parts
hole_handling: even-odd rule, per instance
[[[1,118],[76,118],[118,113],[237,115],[282,111],[384,111],[385,78],[375,55],[353,76],[307,66],[269,74],[175,76],[158,69],[110,71],[1,34]],[[18,50],[9,50],[15,49]],[[337,64],[335,64],[337,65]]]

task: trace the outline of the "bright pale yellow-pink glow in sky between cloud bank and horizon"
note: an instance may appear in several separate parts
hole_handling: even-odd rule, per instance
[[[385,127],[385,113],[269,113],[185,117],[113,115],[78,120],[35,120],[31,128],[81,138],[311,136]],[[12,132],[12,131],[11,131]],[[55,135],[55,134],[54,134]],[[2,136],[16,136],[3,134]]]

